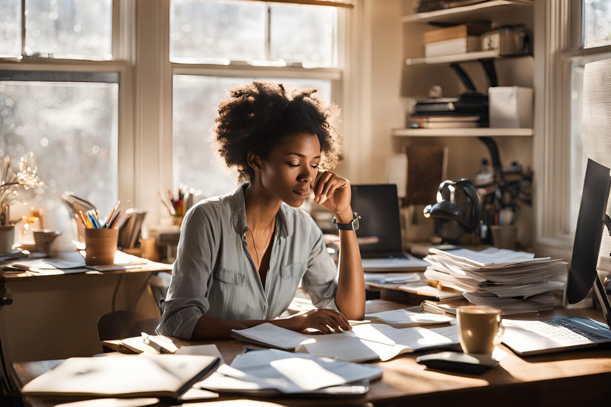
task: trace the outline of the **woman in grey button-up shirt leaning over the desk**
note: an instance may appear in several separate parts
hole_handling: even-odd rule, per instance
[[[213,139],[244,183],[186,214],[159,334],[223,339],[266,322],[331,333],[364,317],[350,184],[319,169],[337,162],[337,129],[329,123],[335,109],[314,92],[255,81],[219,105]],[[315,203],[334,212],[338,228],[350,229],[340,230],[339,273],[322,232],[297,209],[312,191]],[[317,309],[276,319],[299,281]]]

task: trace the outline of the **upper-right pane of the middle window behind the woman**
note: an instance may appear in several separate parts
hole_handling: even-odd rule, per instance
[[[335,7],[271,5],[271,59],[334,67]]]

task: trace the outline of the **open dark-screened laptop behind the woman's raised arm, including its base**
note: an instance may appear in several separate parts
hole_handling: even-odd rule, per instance
[[[397,185],[351,185],[351,206],[360,215],[360,257],[365,271],[424,269],[429,264],[403,252]]]

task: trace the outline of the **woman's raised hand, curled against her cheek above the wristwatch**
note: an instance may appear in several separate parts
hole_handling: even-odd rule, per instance
[[[350,182],[347,179],[338,176],[332,171],[321,170],[316,175],[312,189],[314,191],[315,203],[326,207],[346,222],[352,220]]]

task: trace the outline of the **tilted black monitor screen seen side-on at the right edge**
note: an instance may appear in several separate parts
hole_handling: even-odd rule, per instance
[[[588,159],[573,243],[573,257],[566,284],[566,299],[569,304],[578,303],[593,288],[601,303],[607,324],[611,328],[611,305],[596,273],[611,189],[609,171],[610,169],[604,165]]]

